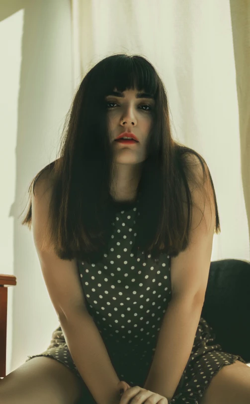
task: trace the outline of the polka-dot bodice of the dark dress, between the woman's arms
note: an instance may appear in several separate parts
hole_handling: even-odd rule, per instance
[[[137,208],[115,215],[102,262],[79,263],[87,308],[109,348],[112,360],[127,351],[142,359],[153,354],[161,321],[171,299],[169,256],[159,261],[131,252]],[[136,364],[134,360],[131,367]]]

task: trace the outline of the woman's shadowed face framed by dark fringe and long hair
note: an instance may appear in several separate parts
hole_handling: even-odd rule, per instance
[[[115,88],[114,92],[105,98],[110,142],[115,148],[116,163],[136,164],[146,159],[146,142],[153,123],[152,110],[155,101],[153,98],[147,98],[150,96],[143,92],[138,93],[138,90],[118,93]],[[123,132],[134,133],[139,142],[124,144],[115,141],[114,139]]]

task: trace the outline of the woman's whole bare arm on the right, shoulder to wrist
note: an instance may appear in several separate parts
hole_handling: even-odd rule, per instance
[[[201,166],[198,164],[196,168],[201,179]],[[207,193],[205,200],[199,187],[191,193],[193,214],[188,247],[171,258],[172,298],[144,385],[145,389],[166,397],[168,402],[192,354],[208,283],[216,214],[209,176],[202,186]]]

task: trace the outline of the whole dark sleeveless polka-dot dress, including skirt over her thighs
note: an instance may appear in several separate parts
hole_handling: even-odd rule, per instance
[[[131,387],[143,387],[156,349],[158,334],[171,300],[169,255],[152,260],[143,253],[131,253],[136,233],[138,199],[114,202],[115,215],[106,253],[97,264],[78,261],[79,279],[88,312],[103,339],[119,380]],[[239,355],[222,352],[213,342],[213,329],[201,317],[185,370],[168,404],[200,404],[212,378],[226,365],[239,360]],[[48,348],[25,362],[38,357],[53,358],[77,375],[83,384],[81,403],[95,404],[71,357],[62,328],[52,334]]]

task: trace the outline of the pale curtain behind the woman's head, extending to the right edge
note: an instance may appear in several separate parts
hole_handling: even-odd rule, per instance
[[[250,260],[250,1],[72,0],[72,27],[75,89],[111,54],[153,63],[174,137],[212,175],[221,221],[212,260]]]

